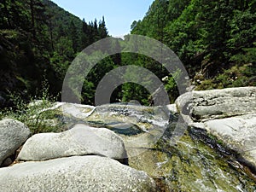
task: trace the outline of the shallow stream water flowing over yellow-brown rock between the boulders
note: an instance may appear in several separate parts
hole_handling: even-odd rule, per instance
[[[159,191],[256,191],[253,174],[220,144],[192,129],[171,142],[174,128],[183,125],[165,108],[105,105],[86,122],[123,137],[129,165],[154,177]]]

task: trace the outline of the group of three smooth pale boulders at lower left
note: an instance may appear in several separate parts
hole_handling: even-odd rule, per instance
[[[19,163],[0,169],[1,191],[154,191],[156,188],[145,172],[127,166],[122,139],[108,129],[78,124],[61,133],[30,137],[26,125],[16,120],[4,119],[0,127],[1,162],[7,161],[26,141],[16,159]]]

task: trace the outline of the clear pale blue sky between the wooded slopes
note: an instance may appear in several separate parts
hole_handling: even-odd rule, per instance
[[[61,8],[79,16],[88,23],[105,17],[109,35],[130,33],[133,20],[142,20],[154,0],[52,0]]]

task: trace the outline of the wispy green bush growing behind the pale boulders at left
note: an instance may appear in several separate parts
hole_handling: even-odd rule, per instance
[[[14,103],[12,108],[4,108],[0,112],[0,119],[16,119],[27,125],[32,134],[39,132],[58,131],[58,123],[54,123],[54,110],[45,110],[53,107],[56,97],[49,96],[49,84],[43,82],[43,90],[38,98],[31,97],[26,103],[19,93],[9,93],[10,100]]]

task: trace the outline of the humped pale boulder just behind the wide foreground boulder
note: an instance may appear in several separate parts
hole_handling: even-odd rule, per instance
[[[126,163],[121,137],[105,128],[78,124],[61,133],[41,133],[26,141],[18,160],[50,160],[74,155],[98,154]]]

